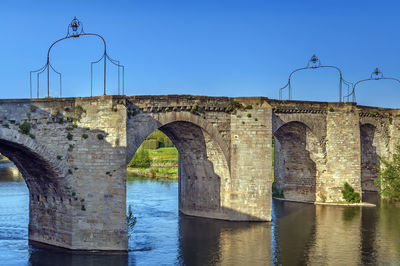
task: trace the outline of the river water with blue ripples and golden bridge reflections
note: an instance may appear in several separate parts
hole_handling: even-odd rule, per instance
[[[271,223],[234,223],[180,215],[177,182],[137,178],[127,183],[137,216],[128,255],[40,249],[28,245],[28,189],[6,173],[0,265],[400,265],[400,206],[375,195],[375,208],[274,200]]]

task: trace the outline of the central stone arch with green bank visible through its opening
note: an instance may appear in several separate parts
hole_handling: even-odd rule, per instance
[[[228,219],[229,146],[205,119],[189,112],[140,113],[128,119],[127,162],[155,130],[165,133],[179,153],[179,210]]]

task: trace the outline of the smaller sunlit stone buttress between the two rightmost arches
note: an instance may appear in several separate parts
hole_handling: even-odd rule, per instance
[[[330,103],[326,120],[326,173],[317,185],[317,195],[327,202],[342,202],[345,182],[361,195],[361,144],[356,105]]]

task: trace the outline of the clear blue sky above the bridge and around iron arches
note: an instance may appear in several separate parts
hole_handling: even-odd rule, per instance
[[[45,63],[49,45],[77,16],[99,33],[126,66],[127,95],[196,94],[278,98],[289,73],[316,54],[344,78],[369,77],[375,67],[400,78],[398,1],[2,1],[1,98],[29,97],[29,71]],[[63,96],[90,95],[90,61],[102,44],[91,37],[58,44],[51,54],[63,73]],[[102,93],[101,65],[95,94]],[[108,72],[116,94],[115,69]],[[42,81],[45,81],[43,76]],[[55,79],[52,96],[57,96]],[[300,72],[293,98],[338,100],[333,70]],[[41,96],[46,92],[41,84]],[[400,107],[400,84],[358,87],[359,104]]]

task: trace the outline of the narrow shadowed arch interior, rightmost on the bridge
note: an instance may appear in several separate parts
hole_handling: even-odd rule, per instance
[[[378,177],[379,168],[375,135],[375,126],[371,124],[362,124],[360,126],[362,191],[378,191],[374,183],[374,179]]]

